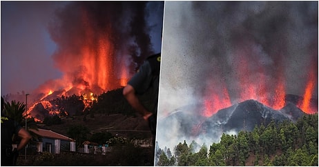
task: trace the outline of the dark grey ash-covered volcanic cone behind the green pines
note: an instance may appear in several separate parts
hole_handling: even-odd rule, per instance
[[[289,106],[285,106],[282,110],[273,110],[258,101],[250,99],[231,106],[230,108],[219,110],[216,115],[213,115],[205,121],[204,128],[206,132],[215,128],[222,129],[223,132],[238,132],[240,130],[251,131],[256,125],[267,125],[271,120],[276,122],[283,120],[295,121],[303,115],[303,112],[296,106],[293,106],[295,105],[289,104]],[[222,112],[231,114],[223,115]],[[299,114],[289,116],[287,112]],[[302,114],[300,114],[300,112]],[[216,121],[220,121],[223,124],[216,124]]]

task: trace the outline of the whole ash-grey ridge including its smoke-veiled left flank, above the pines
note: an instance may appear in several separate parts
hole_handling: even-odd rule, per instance
[[[179,108],[168,117],[159,120],[159,125],[174,126],[178,129],[177,135],[180,136],[216,137],[222,132],[251,131],[256,125],[267,125],[271,120],[296,121],[304,115],[302,110],[290,102],[281,110],[273,110],[253,99],[219,110],[211,117],[198,115],[201,108],[202,104]]]

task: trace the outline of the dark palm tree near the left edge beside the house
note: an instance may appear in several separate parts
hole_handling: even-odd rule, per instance
[[[6,101],[3,106],[4,106],[4,114],[7,117],[10,117],[14,121],[17,121],[22,127],[27,122],[28,127],[26,128],[26,130],[28,130],[30,135],[32,135],[32,139],[37,139],[37,140],[39,139],[39,135],[29,130],[29,129],[37,130],[37,124],[35,122],[35,119],[32,117],[28,118],[27,114],[23,115],[23,112],[26,111],[26,104],[23,104],[20,101],[18,102],[11,101],[11,103]],[[18,142],[19,140],[17,139],[17,137],[14,137],[13,141]]]

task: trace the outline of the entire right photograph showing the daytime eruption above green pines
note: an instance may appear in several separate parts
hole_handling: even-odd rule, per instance
[[[155,166],[318,166],[318,1],[166,1],[161,63]]]

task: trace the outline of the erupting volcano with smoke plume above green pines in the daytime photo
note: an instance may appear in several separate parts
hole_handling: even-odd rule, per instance
[[[318,3],[166,2],[166,14],[162,146],[318,113]]]

